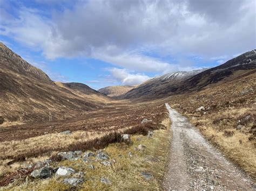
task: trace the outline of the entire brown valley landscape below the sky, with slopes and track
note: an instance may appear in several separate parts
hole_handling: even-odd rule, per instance
[[[99,91],[53,82],[4,44],[0,66],[0,189],[255,188],[255,50],[214,68]],[[102,151],[107,159],[99,159]],[[201,161],[207,152],[213,154]],[[199,159],[189,158],[197,153]],[[52,175],[62,166],[72,167],[76,173],[66,177],[80,182]],[[191,174],[183,180],[183,172]]]

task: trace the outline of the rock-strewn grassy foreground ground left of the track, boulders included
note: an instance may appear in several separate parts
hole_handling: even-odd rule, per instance
[[[149,131],[146,136],[122,135],[119,143],[97,151],[59,152],[55,158],[27,163],[26,168],[0,179],[4,186],[0,189],[159,190],[169,156],[170,119],[163,125],[165,129]]]

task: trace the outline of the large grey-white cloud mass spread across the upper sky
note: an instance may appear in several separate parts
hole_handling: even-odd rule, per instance
[[[42,49],[49,59],[86,56],[156,73],[191,66],[184,62],[173,65],[145,52],[173,57],[193,54],[211,60],[246,52],[256,44],[255,1],[88,0],[73,4],[72,9],[52,11],[51,17],[21,6],[18,17],[13,18],[6,9],[0,34]]]

